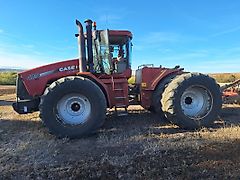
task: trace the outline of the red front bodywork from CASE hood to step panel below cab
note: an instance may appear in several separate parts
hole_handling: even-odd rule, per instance
[[[131,77],[131,69],[127,69],[121,74],[92,74],[90,72],[78,72],[78,59],[62,61],[46,66],[41,66],[19,73],[30,96],[41,96],[48,83],[66,76],[83,76],[98,83],[104,91],[109,107],[119,103],[116,96],[126,97],[122,104],[128,105],[128,82]],[[121,92],[115,89],[123,89]]]

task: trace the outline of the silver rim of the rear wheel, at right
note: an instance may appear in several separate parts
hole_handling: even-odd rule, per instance
[[[181,96],[183,113],[191,119],[206,117],[213,106],[213,98],[208,89],[202,86],[191,86]]]

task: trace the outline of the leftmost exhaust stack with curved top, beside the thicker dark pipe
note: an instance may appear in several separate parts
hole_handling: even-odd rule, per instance
[[[78,38],[79,48],[79,72],[86,72],[86,49],[85,49],[85,37],[83,33],[83,26],[80,21],[76,20],[79,34],[75,34]]]

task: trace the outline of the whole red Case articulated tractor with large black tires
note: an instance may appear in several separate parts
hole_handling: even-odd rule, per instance
[[[78,27],[79,58],[49,64],[18,74],[19,114],[40,111],[49,131],[58,137],[76,138],[100,128],[108,108],[127,114],[129,105],[141,105],[181,128],[213,124],[222,105],[214,79],[182,68],[140,66],[132,75],[132,33],[97,30],[86,20]],[[149,52],[151,53],[151,52]]]

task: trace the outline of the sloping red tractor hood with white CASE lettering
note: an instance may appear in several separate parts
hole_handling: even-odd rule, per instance
[[[34,97],[42,95],[48,83],[61,77],[76,75],[78,68],[79,59],[72,59],[23,71],[18,74],[18,78],[29,95]]]

